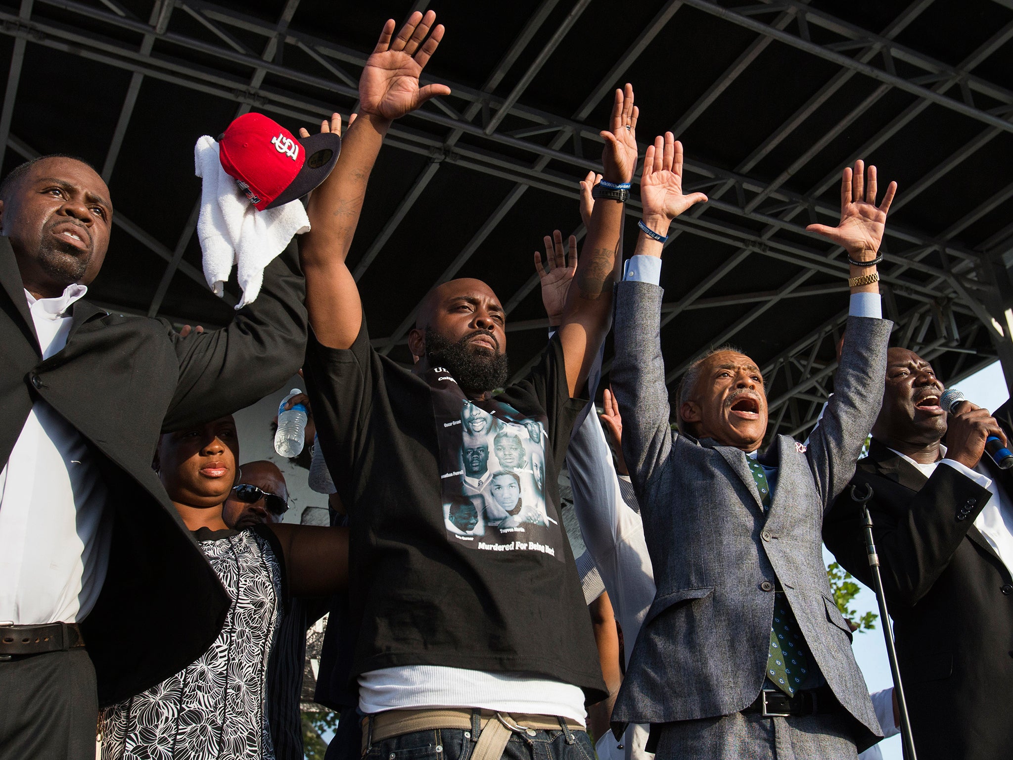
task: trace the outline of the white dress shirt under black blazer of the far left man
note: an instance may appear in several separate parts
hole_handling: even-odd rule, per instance
[[[43,359],[63,350],[71,305],[87,288],[58,298],[24,292]],[[110,516],[106,489],[81,434],[37,399],[0,471],[0,621],[79,622],[105,580]]]

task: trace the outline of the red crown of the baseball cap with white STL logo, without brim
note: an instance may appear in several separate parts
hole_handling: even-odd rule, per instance
[[[281,196],[303,168],[305,152],[287,129],[262,113],[244,113],[219,140],[222,168],[258,211]]]

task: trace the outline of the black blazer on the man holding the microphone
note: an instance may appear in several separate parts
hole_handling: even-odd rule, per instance
[[[990,466],[988,455],[983,461],[1013,495],[1010,473]],[[874,439],[852,482],[874,491],[873,536],[920,760],[1010,757],[1013,579],[972,525],[991,493],[947,465],[926,478]],[[845,490],[824,522],[824,540],[871,586],[859,520]]]

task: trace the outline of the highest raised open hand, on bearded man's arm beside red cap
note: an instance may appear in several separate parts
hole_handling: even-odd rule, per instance
[[[418,86],[418,77],[444,35],[443,24],[433,28],[436,18],[437,14],[432,10],[426,11],[424,16],[416,10],[393,40],[394,19],[387,20],[359,79],[360,109],[363,113],[381,119],[399,119],[431,97],[450,94],[450,87],[445,84]]]

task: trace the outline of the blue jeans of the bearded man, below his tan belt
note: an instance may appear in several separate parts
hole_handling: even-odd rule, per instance
[[[468,760],[475,749],[474,737],[470,734],[463,729],[403,734],[374,742],[363,760]],[[587,732],[564,733],[561,728],[536,731],[535,736],[514,734],[502,757],[504,760],[597,760]]]

